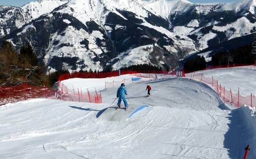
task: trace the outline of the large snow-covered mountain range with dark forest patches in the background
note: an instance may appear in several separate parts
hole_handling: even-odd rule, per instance
[[[48,71],[132,64],[178,65],[210,46],[256,31],[255,0],[42,0],[0,7],[0,36],[30,42]]]

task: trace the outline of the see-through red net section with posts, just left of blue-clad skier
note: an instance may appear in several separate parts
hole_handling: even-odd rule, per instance
[[[102,103],[101,92],[89,92],[82,89],[68,89],[65,85],[60,85],[58,89],[58,98],[67,101],[87,102],[87,103]]]

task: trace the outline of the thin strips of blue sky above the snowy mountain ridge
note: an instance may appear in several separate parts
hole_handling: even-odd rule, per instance
[[[0,0],[0,5],[12,5],[21,7],[28,2],[35,0]],[[217,2],[237,2],[238,0],[188,0],[192,3],[217,3]]]

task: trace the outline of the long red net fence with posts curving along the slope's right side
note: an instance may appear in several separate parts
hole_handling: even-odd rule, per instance
[[[202,73],[200,74],[190,74],[191,79],[195,79],[198,81],[202,81],[208,85],[210,85],[218,94],[221,96],[225,102],[232,103],[236,107],[241,107],[242,105],[248,105],[251,107],[256,107],[256,96],[242,96],[240,94],[239,88],[237,89],[237,93],[233,93],[233,90],[226,89],[225,86],[221,85],[218,80],[214,79],[213,76],[211,78],[206,78]]]

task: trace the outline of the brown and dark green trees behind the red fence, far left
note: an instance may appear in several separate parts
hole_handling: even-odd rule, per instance
[[[0,46],[0,86],[15,86],[23,82],[41,86],[46,80],[31,44],[22,46],[17,53],[11,42],[3,41]]]

